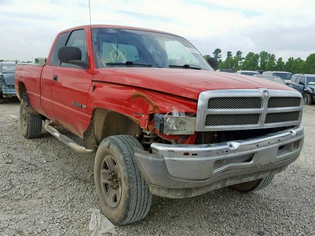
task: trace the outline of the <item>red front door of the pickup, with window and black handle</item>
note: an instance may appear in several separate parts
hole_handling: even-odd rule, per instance
[[[70,32],[65,46],[78,47],[81,60],[89,61],[87,32],[77,29]],[[90,45],[91,46],[91,45]],[[92,46],[91,46],[92,47]],[[52,76],[53,110],[57,123],[72,133],[83,137],[91,115],[88,114],[88,92],[92,85],[93,70],[91,60],[89,68],[83,69],[74,64],[63,63],[56,66]]]

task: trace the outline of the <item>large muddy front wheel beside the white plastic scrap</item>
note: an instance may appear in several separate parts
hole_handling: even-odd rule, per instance
[[[96,151],[94,177],[100,207],[114,224],[143,219],[149,212],[152,194],[141,176],[134,150],[143,149],[129,135],[110,136]]]

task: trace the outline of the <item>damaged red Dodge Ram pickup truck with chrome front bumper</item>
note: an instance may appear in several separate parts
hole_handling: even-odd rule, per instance
[[[152,194],[262,189],[300,154],[301,94],[216,67],[216,59],[206,61],[172,33],[66,29],[46,65],[16,67],[23,136],[39,137],[44,121],[73,150],[95,151],[100,207],[116,224],[144,218]],[[54,125],[81,137],[84,147]]]

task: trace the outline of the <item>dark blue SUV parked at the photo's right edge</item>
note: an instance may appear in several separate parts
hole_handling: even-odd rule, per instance
[[[311,105],[315,102],[315,75],[294,74],[289,86],[303,95],[304,104]]]

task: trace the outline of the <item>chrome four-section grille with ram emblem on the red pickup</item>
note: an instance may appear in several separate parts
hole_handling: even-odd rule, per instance
[[[293,126],[301,123],[302,95],[278,89],[221,89],[199,94],[196,131]]]

